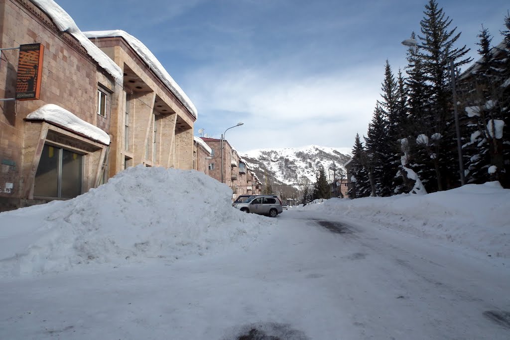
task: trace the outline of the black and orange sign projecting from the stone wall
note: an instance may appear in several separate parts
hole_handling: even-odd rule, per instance
[[[41,93],[44,46],[39,43],[19,46],[16,99],[39,99]]]

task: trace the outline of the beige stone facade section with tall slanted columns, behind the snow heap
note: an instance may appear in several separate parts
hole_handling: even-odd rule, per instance
[[[194,112],[134,49],[139,41],[123,31],[97,35],[91,41],[123,75],[122,91],[112,98],[109,176],[138,164],[193,169]]]

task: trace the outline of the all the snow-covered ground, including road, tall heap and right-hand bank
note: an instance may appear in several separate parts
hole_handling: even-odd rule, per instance
[[[510,335],[510,190],[331,199],[275,219],[231,195],[139,166],[1,213],[0,338]]]

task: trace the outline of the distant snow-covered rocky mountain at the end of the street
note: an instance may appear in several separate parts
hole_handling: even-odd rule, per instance
[[[347,153],[346,148],[310,145],[302,148],[258,149],[240,154],[263,184],[266,178],[271,184],[307,184],[316,181],[318,164],[322,164],[326,170],[328,181],[333,180],[334,172],[337,179],[345,178],[343,165],[350,159]]]

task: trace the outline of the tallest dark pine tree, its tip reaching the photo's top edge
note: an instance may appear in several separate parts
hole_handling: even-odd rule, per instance
[[[444,190],[458,186],[458,160],[456,160],[456,136],[453,121],[453,106],[450,88],[449,60],[454,67],[460,67],[471,61],[465,58],[469,48],[465,45],[455,48],[454,44],[461,33],[455,33],[456,27],[449,29],[452,19],[447,17],[436,0],[425,5],[424,18],[420,21],[420,44],[427,47],[418,50],[425,79],[426,93],[429,94],[428,116],[430,121],[424,124],[420,135],[425,135],[428,144],[421,145],[427,151],[436,176],[436,188],[427,188],[428,192]],[[447,56],[447,58],[445,58]],[[432,181],[430,181],[429,186]]]

